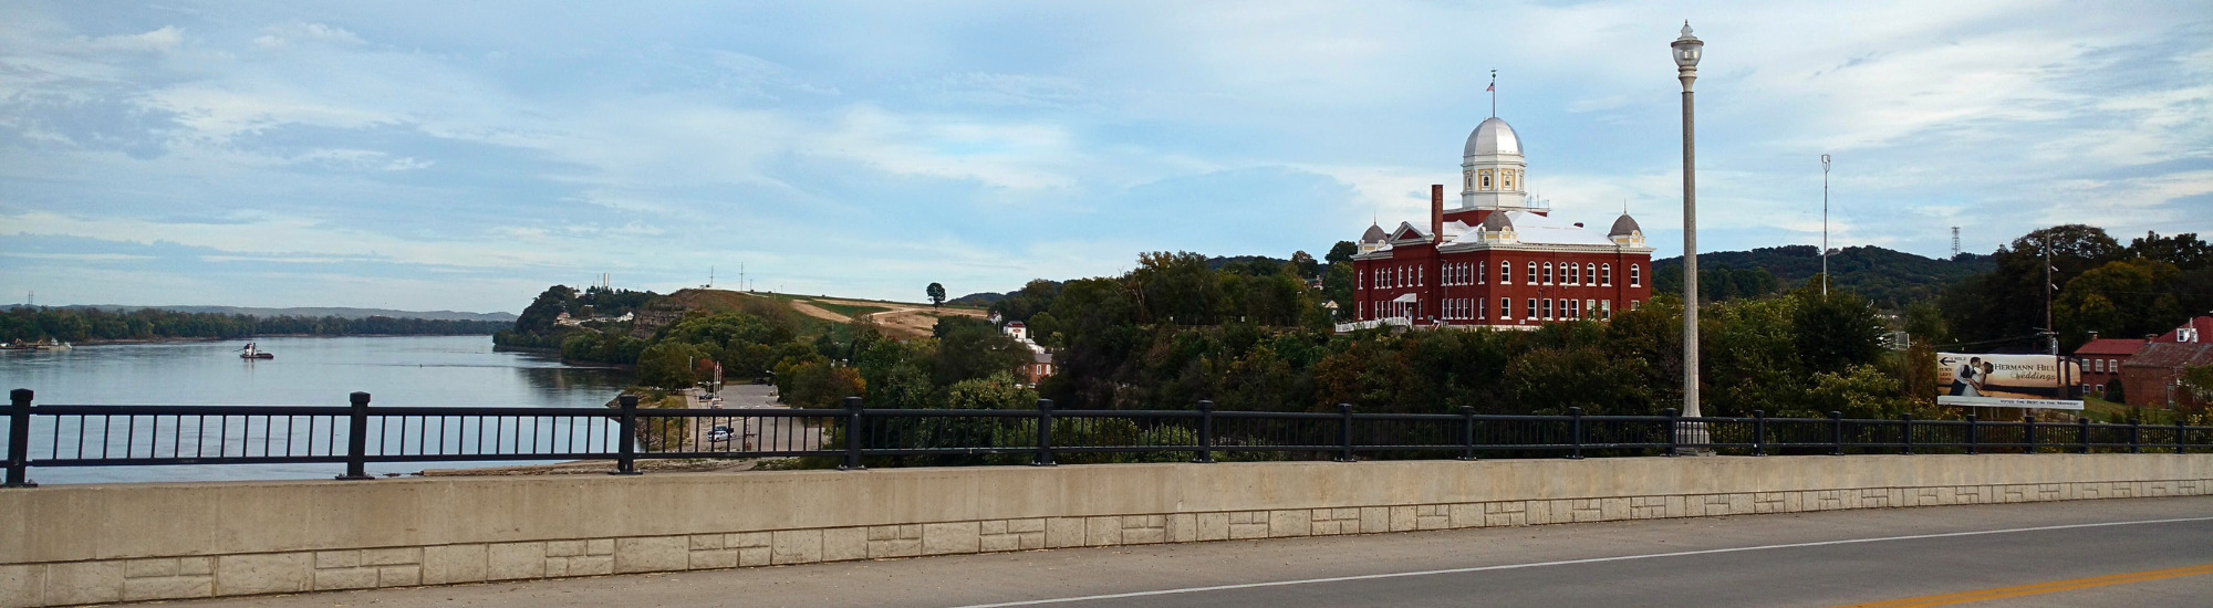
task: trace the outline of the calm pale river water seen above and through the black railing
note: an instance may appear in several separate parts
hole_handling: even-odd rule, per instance
[[[491,336],[254,343],[277,358],[241,360],[237,352],[246,340],[0,352],[0,389],[33,389],[40,405],[347,405],[347,394],[367,391],[372,405],[531,409],[600,407],[631,382],[631,374],[622,369],[573,367],[540,354],[493,352]],[[33,460],[42,447],[53,444],[51,436],[51,424],[33,427]],[[516,462],[398,462],[370,464],[370,473],[496,464]],[[345,464],[33,467],[31,480],[40,484],[328,480],[343,471]]]

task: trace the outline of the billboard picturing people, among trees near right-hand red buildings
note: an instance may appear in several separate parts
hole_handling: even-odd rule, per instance
[[[1936,354],[1936,405],[2082,409],[2082,365],[2049,354]]]

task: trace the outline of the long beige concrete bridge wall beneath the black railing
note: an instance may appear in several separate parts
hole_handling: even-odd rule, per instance
[[[0,491],[0,606],[2209,489],[2213,455],[2058,453],[42,486]]]

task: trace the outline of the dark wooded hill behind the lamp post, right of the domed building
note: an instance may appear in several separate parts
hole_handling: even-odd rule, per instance
[[[1742,298],[1793,290],[1821,274],[1821,248],[1781,245],[1750,252],[1697,254],[1700,285],[1706,298]],[[1996,270],[1981,254],[1928,259],[1885,248],[1841,248],[1828,256],[1830,287],[1848,287],[1881,307],[1905,307],[1932,301],[1943,287],[1978,272]],[[1653,261],[1653,290],[1682,292],[1682,259]]]

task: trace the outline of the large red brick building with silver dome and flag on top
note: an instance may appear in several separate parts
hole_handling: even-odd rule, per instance
[[[1531,206],[1520,137],[1492,117],[1467,135],[1461,203],[1430,186],[1430,223],[1368,226],[1352,256],[1357,323],[1534,329],[1611,318],[1651,298],[1651,248],[1629,214],[1607,232]]]

